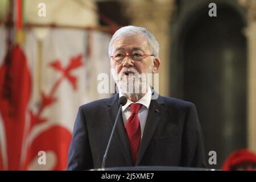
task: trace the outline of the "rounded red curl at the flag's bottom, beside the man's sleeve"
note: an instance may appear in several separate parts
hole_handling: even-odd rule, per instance
[[[28,147],[26,169],[34,170],[34,167],[38,166],[38,160],[40,160],[39,152],[44,151],[47,154],[47,165],[42,165],[41,169],[64,170],[67,167],[68,148],[71,138],[70,131],[60,125],[52,126],[40,133],[33,140],[31,146]]]

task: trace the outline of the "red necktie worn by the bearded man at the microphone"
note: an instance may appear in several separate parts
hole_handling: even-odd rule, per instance
[[[139,152],[139,143],[141,143],[141,125],[139,124],[138,111],[141,109],[141,104],[131,104],[131,115],[127,119],[125,128],[130,142],[131,155],[133,162],[136,163]]]

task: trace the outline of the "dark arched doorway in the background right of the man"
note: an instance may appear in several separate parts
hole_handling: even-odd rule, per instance
[[[208,10],[191,14],[180,34],[177,92],[197,107],[207,156],[217,152],[217,166],[208,167],[221,168],[230,152],[246,147],[245,23],[228,5],[218,4],[214,18]]]

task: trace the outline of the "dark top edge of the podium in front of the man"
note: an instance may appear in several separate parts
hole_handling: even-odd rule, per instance
[[[90,171],[218,171],[218,169],[175,167],[175,166],[135,166],[90,169]]]

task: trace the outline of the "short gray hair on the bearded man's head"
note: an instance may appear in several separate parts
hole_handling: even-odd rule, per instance
[[[159,44],[158,41],[155,39],[155,36],[150,33],[146,28],[143,27],[135,27],[135,26],[126,26],[119,28],[114,35],[112,36],[112,39],[109,43],[109,56],[112,56],[112,47],[114,41],[121,37],[121,36],[131,36],[131,35],[143,35],[147,39],[148,47],[151,51],[152,55],[155,55],[156,57],[159,56]]]

